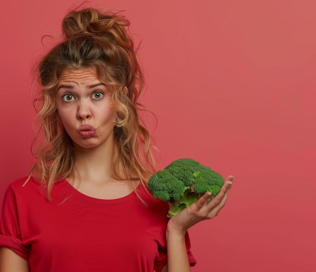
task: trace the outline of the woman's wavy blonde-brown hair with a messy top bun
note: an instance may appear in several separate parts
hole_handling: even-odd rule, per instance
[[[38,118],[43,139],[37,147],[29,177],[45,186],[47,199],[50,199],[55,181],[73,177],[76,171],[74,146],[56,106],[57,85],[65,69],[93,68],[100,81],[112,91],[117,112],[113,177],[140,179],[144,186],[155,171],[150,134],[138,113],[146,110],[138,102],[143,76],[128,34],[129,25],[123,16],[111,12],[90,8],[72,11],[62,22],[63,41],[38,65],[41,85],[41,95],[37,99],[40,102]]]

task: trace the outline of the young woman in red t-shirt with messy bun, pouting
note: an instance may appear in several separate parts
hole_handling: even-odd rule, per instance
[[[139,117],[142,74],[129,21],[84,9],[38,68],[41,140],[28,178],[12,183],[0,223],[0,272],[190,271],[187,230],[212,219],[232,185],[169,221],[146,189],[155,172]],[[40,137],[42,135],[42,137]]]

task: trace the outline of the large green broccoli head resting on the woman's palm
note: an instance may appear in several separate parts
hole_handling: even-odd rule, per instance
[[[209,200],[221,191],[223,177],[207,166],[191,158],[180,158],[164,170],[153,174],[148,190],[170,205],[168,217],[196,202],[205,192],[211,192]]]

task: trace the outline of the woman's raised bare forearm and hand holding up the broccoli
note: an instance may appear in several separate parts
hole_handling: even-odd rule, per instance
[[[232,186],[233,177],[225,180],[221,192],[212,200],[207,201],[210,193],[205,193],[197,202],[173,216],[167,227],[167,252],[168,269],[165,266],[162,272],[190,272],[185,233],[200,221],[212,219],[224,207],[229,190]]]

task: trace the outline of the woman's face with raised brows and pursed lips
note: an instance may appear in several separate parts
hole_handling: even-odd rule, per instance
[[[65,70],[57,88],[57,110],[75,147],[112,148],[116,111],[112,93],[96,71]]]

